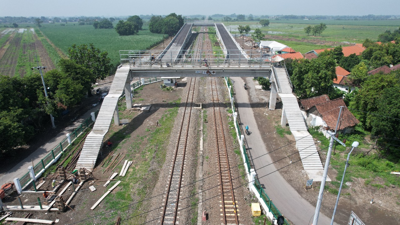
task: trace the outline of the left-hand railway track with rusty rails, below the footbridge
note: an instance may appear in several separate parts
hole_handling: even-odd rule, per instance
[[[180,186],[184,174],[185,153],[190,128],[190,117],[192,114],[192,106],[194,99],[196,78],[192,77],[189,85],[189,92],[186,97],[184,112],[181,119],[178,140],[176,141],[174,158],[171,163],[171,172],[169,175],[169,183],[165,192],[165,202],[160,221],[161,225],[175,225],[178,223],[178,206],[180,198]]]

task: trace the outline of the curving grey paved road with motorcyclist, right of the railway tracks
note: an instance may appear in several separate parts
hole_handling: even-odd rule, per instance
[[[311,205],[308,201],[303,199],[297,191],[282,177],[279,172],[272,173],[263,177],[264,175],[275,171],[272,159],[269,155],[264,155],[269,151],[275,149],[267,149],[261,138],[261,134],[258,131],[256,119],[254,118],[253,110],[250,106],[249,96],[244,90],[244,81],[240,77],[231,78],[233,86],[236,92],[236,101],[238,102],[238,112],[240,115],[240,121],[249,126],[249,130],[252,132],[251,135],[245,135],[245,141],[247,141],[248,147],[251,148],[251,155],[254,159],[254,169],[260,178],[260,183],[265,186],[265,191],[268,196],[272,199],[279,211],[292,221],[295,225],[309,225],[312,223],[314,218],[315,206]],[[248,88],[254,88],[254,86],[248,85]],[[261,155],[264,155],[260,157]],[[262,169],[258,169],[264,167]],[[317,199],[315,199],[315,202]],[[311,222],[310,222],[311,220]],[[318,224],[330,224],[330,218],[320,213]],[[336,224],[336,223],[334,223]],[[336,224],[337,225],[337,224]]]

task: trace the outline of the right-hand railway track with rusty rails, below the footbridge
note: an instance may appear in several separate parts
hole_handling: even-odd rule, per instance
[[[224,125],[216,86],[216,78],[210,78],[212,89],[212,104],[215,125],[216,152],[218,156],[219,182],[220,182],[220,211],[221,222],[224,225],[239,224],[239,213],[237,202],[233,191],[232,177],[226,148]]]

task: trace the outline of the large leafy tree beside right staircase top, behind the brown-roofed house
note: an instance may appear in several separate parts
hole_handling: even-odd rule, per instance
[[[292,67],[291,80],[295,86],[294,92],[300,99],[321,94],[336,96],[337,93],[332,86],[333,79],[336,78],[336,62],[332,56],[294,61]]]

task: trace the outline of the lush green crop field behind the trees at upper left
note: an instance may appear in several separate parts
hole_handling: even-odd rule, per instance
[[[162,34],[150,33],[148,26],[143,26],[138,35],[119,36],[115,29],[94,29],[92,25],[74,23],[65,25],[45,24],[40,31],[65,54],[72,44],[93,43],[96,48],[108,52],[114,65],[120,62],[119,50],[145,50],[156,46],[163,38]]]

